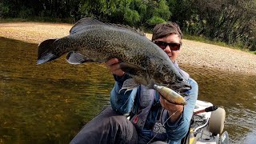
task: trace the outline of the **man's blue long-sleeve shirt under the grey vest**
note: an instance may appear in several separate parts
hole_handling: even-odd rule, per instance
[[[115,76],[116,82],[114,84],[113,90],[111,90],[110,93],[110,103],[113,110],[116,110],[120,114],[128,115],[132,111],[134,111],[134,108],[136,107],[136,98],[139,97],[139,87],[134,88],[133,90],[127,91],[125,93],[125,90],[121,90],[121,88],[123,82],[127,78],[129,78],[127,74],[125,74],[122,78],[118,78]],[[178,118],[176,122],[170,122],[166,121],[166,119],[169,118],[167,110],[164,110],[162,114],[162,122],[166,122],[165,128],[167,137],[170,140],[169,143],[179,143],[181,139],[186,136],[186,133],[189,130],[190,120],[192,118],[192,114],[194,111],[195,102],[198,98],[198,84],[192,78],[189,78],[188,82],[190,83],[192,89],[186,92],[188,94],[188,96],[186,96],[187,104],[184,106],[184,110],[180,118]],[[121,91],[119,92],[119,90]],[[156,102],[159,102],[160,97],[158,93],[155,94]],[[149,122],[154,122],[156,119],[155,117],[157,116],[157,114],[153,110],[150,111],[149,115],[150,116],[147,117],[148,122],[146,122],[144,127],[147,127],[146,125],[150,125]]]

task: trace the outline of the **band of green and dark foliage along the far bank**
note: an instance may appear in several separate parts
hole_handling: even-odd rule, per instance
[[[77,22],[98,18],[152,30],[177,22],[185,34],[256,50],[255,0],[1,0],[0,18]],[[68,19],[68,21],[66,21]]]

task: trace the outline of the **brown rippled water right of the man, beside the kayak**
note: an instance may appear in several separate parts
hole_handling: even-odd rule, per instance
[[[226,110],[224,130],[230,134],[230,143],[256,143],[256,75],[182,67],[198,82],[200,100]]]

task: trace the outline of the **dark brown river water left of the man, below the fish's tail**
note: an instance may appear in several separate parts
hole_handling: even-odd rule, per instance
[[[36,66],[37,46],[0,39],[0,143],[68,143],[108,104],[105,66]]]

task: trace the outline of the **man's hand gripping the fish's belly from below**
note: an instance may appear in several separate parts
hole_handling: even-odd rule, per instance
[[[125,74],[125,72],[120,69],[118,58],[111,58],[105,63],[106,63],[106,67],[110,70],[112,74],[115,74],[119,77],[122,77],[123,74]]]

